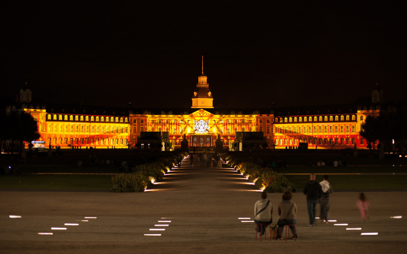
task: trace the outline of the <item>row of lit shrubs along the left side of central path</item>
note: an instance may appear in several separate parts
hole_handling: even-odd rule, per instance
[[[154,182],[161,180],[164,174],[180,163],[186,155],[187,153],[184,152],[161,157],[156,162],[133,167],[133,174],[112,176],[112,192],[143,192]]]

